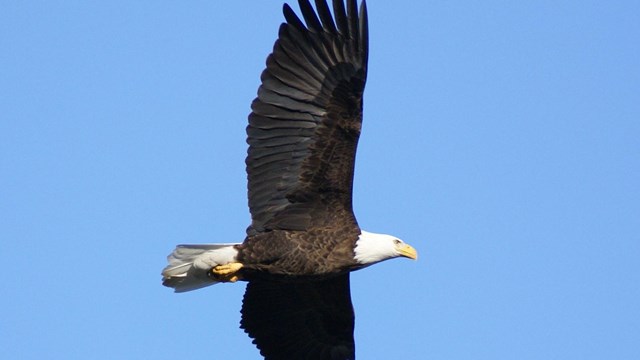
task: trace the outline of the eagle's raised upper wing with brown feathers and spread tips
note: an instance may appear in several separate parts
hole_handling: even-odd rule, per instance
[[[246,159],[249,235],[304,230],[312,219],[350,215],[356,146],[367,75],[364,1],[299,0],[288,5],[249,115]]]

